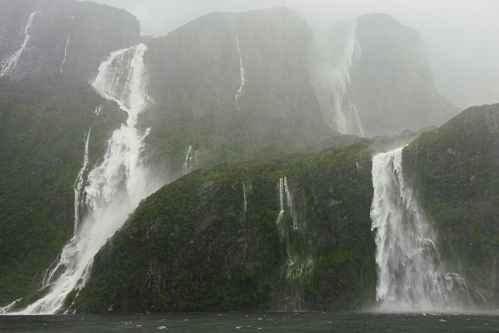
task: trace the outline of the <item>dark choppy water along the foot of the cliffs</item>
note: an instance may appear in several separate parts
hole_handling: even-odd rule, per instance
[[[0,332],[499,332],[498,314],[210,313],[0,316]]]

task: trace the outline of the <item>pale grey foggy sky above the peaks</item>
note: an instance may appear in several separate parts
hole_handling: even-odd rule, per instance
[[[93,0],[134,14],[143,35],[165,35],[213,11],[286,6],[314,29],[371,12],[413,26],[425,42],[435,85],[460,107],[499,102],[499,0]]]

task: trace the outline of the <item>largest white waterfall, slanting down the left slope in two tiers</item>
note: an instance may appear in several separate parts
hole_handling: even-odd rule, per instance
[[[42,288],[49,292],[19,314],[54,314],[66,296],[79,291],[85,284],[93,257],[106,240],[122,226],[139,201],[159,187],[143,163],[141,152],[149,133],[135,128],[137,115],[144,110],[150,97],[145,89],[142,56],[147,47],[138,44],[112,52],[99,67],[92,85],[106,98],[116,101],[128,113],[128,120],[116,129],[107,143],[100,165],[95,166],[81,189],[88,161],[86,136],[83,168],[75,183],[75,228],[60,258],[50,267]]]

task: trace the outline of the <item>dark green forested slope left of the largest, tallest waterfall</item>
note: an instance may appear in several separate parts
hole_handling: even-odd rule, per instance
[[[76,78],[0,78],[0,306],[36,291],[72,234],[85,134],[93,165],[124,120]]]

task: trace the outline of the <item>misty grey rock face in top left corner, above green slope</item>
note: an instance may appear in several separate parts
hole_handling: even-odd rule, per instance
[[[27,28],[29,40],[10,74],[14,78],[62,71],[89,80],[111,51],[140,39],[137,18],[108,5],[75,0],[0,0],[0,7],[0,60],[21,48],[29,15],[37,12]]]

